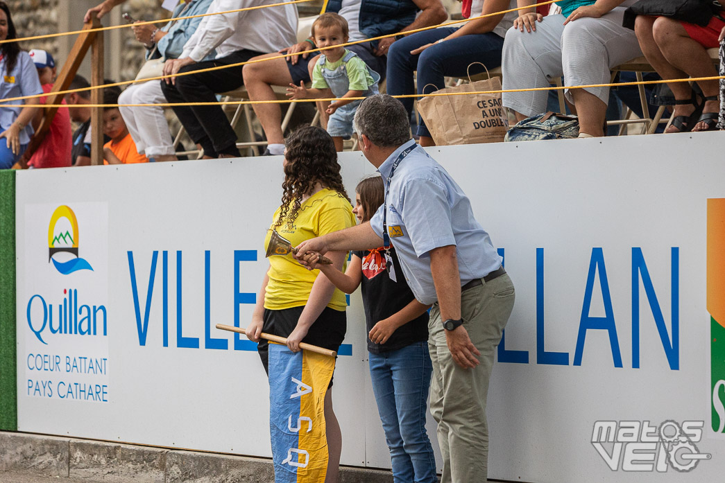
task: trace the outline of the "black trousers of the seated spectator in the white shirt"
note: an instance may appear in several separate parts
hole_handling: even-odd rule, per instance
[[[263,52],[236,51],[221,59],[197,62],[182,67],[179,72],[238,64],[261,54]],[[161,89],[166,100],[172,103],[216,102],[216,94],[233,91],[244,83],[241,77],[241,67],[240,65],[223,70],[176,77],[175,84],[167,84],[162,80],[160,81]],[[239,150],[236,148],[236,133],[229,125],[229,119],[220,105],[175,106],[173,110],[191,140],[204,148],[205,155],[212,158],[216,158],[220,154],[239,156]]]

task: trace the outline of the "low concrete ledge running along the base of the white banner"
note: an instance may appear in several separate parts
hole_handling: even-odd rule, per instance
[[[274,482],[272,461],[265,458],[13,432],[0,432],[0,471],[56,476],[69,483]],[[341,483],[392,481],[390,471],[340,468]]]

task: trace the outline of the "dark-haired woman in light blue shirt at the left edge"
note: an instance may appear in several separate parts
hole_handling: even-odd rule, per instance
[[[17,38],[10,10],[0,1],[0,41]],[[38,72],[28,52],[17,42],[0,45],[0,99],[43,93]],[[0,104],[0,169],[12,168],[30,143],[38,98]],[[1,139],[1,138],[4,138]]]

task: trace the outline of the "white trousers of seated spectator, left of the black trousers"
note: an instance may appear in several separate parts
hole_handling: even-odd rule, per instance
[[[121,93],[118,104],[166,102],[160,80],[131,84]],[[121,107],[121,116],[140,154],[147,157],[175,154],[169,125],[162,107]]]

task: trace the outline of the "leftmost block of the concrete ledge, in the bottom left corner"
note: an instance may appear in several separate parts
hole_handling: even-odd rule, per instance
[[[68,476],[68,439],[0,432],[0,471]]]

